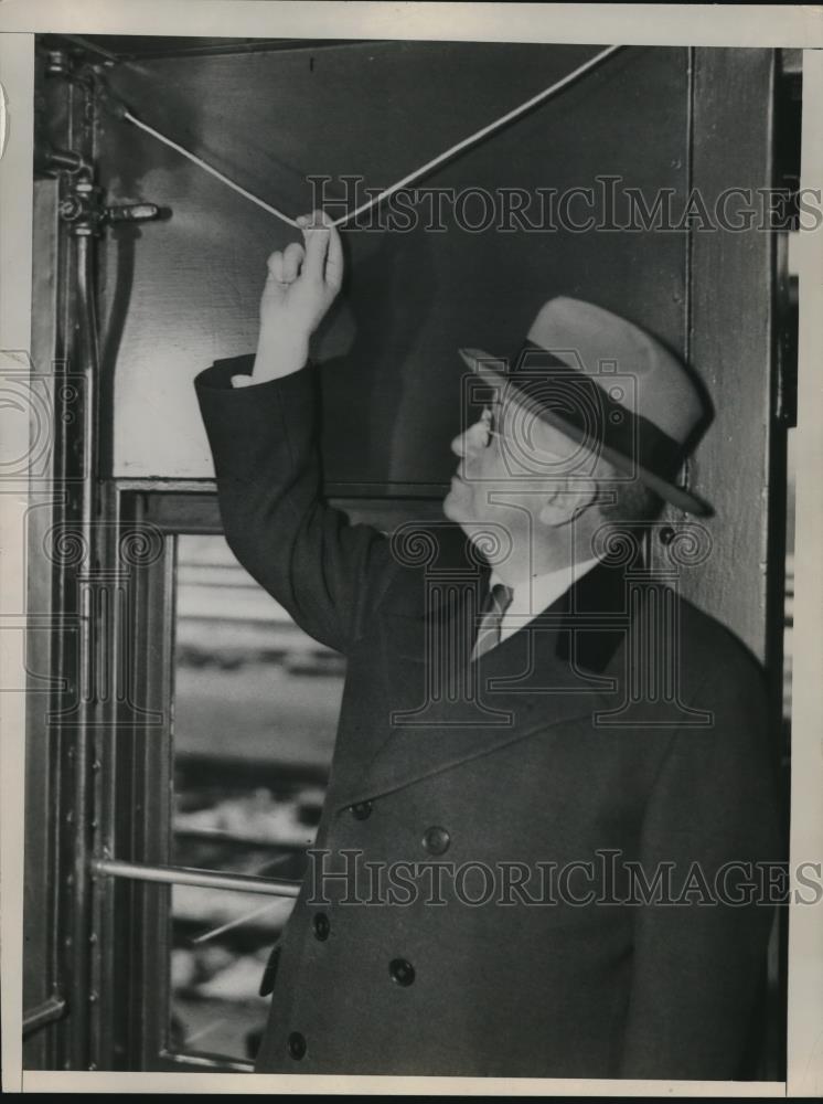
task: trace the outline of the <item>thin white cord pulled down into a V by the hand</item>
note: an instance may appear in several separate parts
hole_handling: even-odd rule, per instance
[[[438,166],[443,164],[446,161],[450,160],[452,157],[456,157],[458,153],[461,153],[463,150],[469,149],[471,146],[475,146],[484,138],[488,138],[490,135],[494,134],[498,130],[501,130],[510,123],[513,123],[515,119],[520,118],[521,115],[525,115],[525,113],[530,112],[533,107],[536,107],[538,104],[542,104],[545,100],[549,99],[552,96],[555,96],[563,88],[566,88],[578,77],[582,76],[584,73],[588,73],[590,70],[594,70],[601,62],[606,61],[607,57],[610,57],[612,54],[617,53],[618,50],[621,49],[622,49],[621,46],[617,45],[617,46],[608,46],[606,50],[601,50],[599,53],[595,54],[594,57],[590,57],[587,62],[584,62],[582,65],[578,65],[577,68],[573,70],[570,73],[567,73],[566,76],[562,77],[559,81],[556,81],[547,88],[544,88],[543,92],[538,92],[536,96],[532,96],[531,99],[527,99],[523,104],[520,104],[511,112],[507,112],[505,115],[501,115],[492,123],[489,123],[487,126],[481,127],[480,130],[475,130],[467,138],[463,138],[462,141],[457,142],[455,146],[450,146],[447,150],[443,150],[442,153],[439,153],[430,161],[427,161],[425,164],[421,164],[413,172],[409,172],[407,176],[403,177],[402,180],[398,180],[394,184],[391,184],[388,188],[384,189],[378,195],[374,195],[365,203],[361,203],[361,205],[355,208],[353,211],[350,211],[348,214],[344,214],[340,219],[334,220],[334,222],[332,222],[332,225],[344,226],[348,222],[351,222],[352,219],[356,219],[359,215],[365,214],[366,211],[371,210],[373,206],[376,206],[378,203],[382,203],[385,199],[394,194],[394,192],[398,191],[400,188],[405,188],[408,184],[413,183],[415,180],[419,180],[421,177],[427,176]],[[183,146],[180,146],[178,142],[172,141],[171,138],[167,138],[165,135],[161,134],[159,130],[156,130],[153,127],[150,127],[147,123],[143,123],[141,119],[138,119],[124,105],[117,105],[117,108],[118,108],[117,115],[119,118],[126,119],[133,126],[139,127],[141,130],[145,130],[147,134],[151,135],[153,138],[157,138],[158,141],[161,141],[163,142],[163,145],[169,146],[171,149],[177,150],[178,153],[182,153],[183,157],[186,157],[190,161],[199,166],[205,172],[209,172],[213,177],[216,177],[217,180],[223,181],[224,184],[226,184],[228,188],[234,189],[234,191],[239,192],[241,195],[245,195],[247,200],[250,200],[252,203],[256,203],[257,206],[263,208],[264,211],[268,211],[269,214],[275,215],[276,219],[279,219],[281,222],[287,223],[289,226],[295,226],[296,229],[299,229],[296,219],[292,219],[290,215],[286,214],[284,211],[280,211],[278,208],[272,206],[271,203],[266,203],[265,200],[261,200],[259,197],[254,195],[245,188],[242,188],[234,180],[229,180],[228,177],[226,177],[218,169],[215,169],[214,166],[209,164],[206,161],[197,157],[195,153],[192,153],[190,150],[185,149]]]

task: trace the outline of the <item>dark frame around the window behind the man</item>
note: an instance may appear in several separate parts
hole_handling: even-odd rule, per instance
[[[352,521],[391,530],[440,516],[440,498],[330,498]],[[95,1069],[252,1072],[253,1062],[169,1044],[171,885],[105,872],[103,860],[172,867],[177,538],[220,534],[212,480],[109,480],[103,513],[121,601],[113,604],[120,660],[96,719],[95,843],[89,916],[89,1053]],[[139,534],[143,541],[140,542]],[[148,554],[124,564],[125,543]],[[119,561],[119,562],[118,562]],[[239,888],[239,887],[238,887]]]

